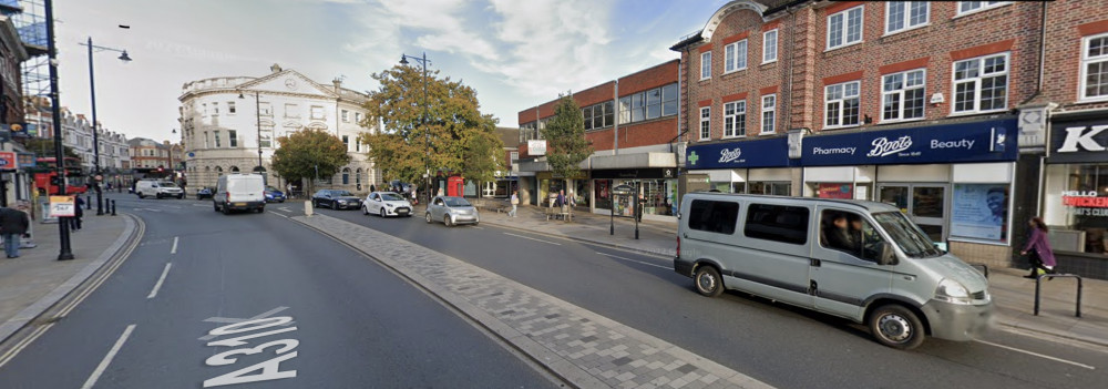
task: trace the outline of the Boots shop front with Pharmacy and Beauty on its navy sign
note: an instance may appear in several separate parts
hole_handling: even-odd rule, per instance
[[[803,195],[893,204],[955,255],[1005,255],[1015,134],[1016,121],[999,119],[806,136]]]

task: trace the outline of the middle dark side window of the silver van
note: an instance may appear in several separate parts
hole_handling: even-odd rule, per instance
[[[750,204],[743,234],[748,237],[802,245],[808,242],[807,207]]]

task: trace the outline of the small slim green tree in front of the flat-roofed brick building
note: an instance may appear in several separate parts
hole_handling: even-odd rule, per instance
[[[578,165],[593,154],[593,145],[585,140],[585,119],[572,95],[561,96],[554,116],[542,132],[551,174],[562,178],[581,174]]]

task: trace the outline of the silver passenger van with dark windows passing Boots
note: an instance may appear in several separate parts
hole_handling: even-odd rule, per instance
[[[690,193],[680,209],[674,270],[704,296],[736,289],[844,317],[900,349],[988,326],[985,277],[892,205]]]

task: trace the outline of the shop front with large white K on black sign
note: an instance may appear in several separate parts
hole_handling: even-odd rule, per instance
[[[1050,127],[1042,205],[1058,264],[1108,278],[1108,115],[1055,116]]]

